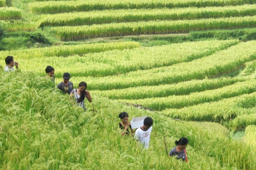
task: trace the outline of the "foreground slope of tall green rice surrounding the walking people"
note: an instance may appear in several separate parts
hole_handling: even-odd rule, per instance
[[[175,121],[96,96],[97,112],[86,102],[85,113],[44,76],[23,72],[0,78],[1,169],[120,169],[120,162],[123,169],[256,168],[255,150],[232,140],[219,124]],[[154,119],[149,150],[119,135],[120,111]],[[189,164],[166,155],[163,135],[168,150],[180,136],[189,139]]]

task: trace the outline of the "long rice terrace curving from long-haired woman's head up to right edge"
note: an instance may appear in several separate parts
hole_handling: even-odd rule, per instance
[[[81,80],[85,80],[90,90],[111,90],[204,79],[205,77],[221,75],[248,61],[255,60],[256,51],[251,48],[254,45],[256,45],[256,41],[248,41],[191,62],[103,78],[76,77],[72,78],[72,82],[78,84]]]

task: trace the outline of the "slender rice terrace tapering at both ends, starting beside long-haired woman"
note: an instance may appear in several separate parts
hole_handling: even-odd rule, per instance
[[[166,97],[169,95],[187,95],[193,92],[211,90],[215,88],[243,82],[245,78],[217,78],[204,80],[191,80],[171,85],[138,86],[113,90],[92,90],[92,94],[110,99],[141,99],[151,97]],[[136,100],[135,100],[136,101]]]

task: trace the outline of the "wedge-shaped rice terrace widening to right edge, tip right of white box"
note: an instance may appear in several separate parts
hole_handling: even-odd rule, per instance
[[[233,129],[241,129],[245,127],[244,124],[229,123],[228,121],[235,120],[239,115],[253,114],[254,108],[244,108],[239,103],[243,100],[254,100],[255,95],[256,93],[253,92],[251,94],[243,94],[237,97],[225,98],[220,101],[202,103],[181,109],[165,109],[161,113],[172,118],[193,121],[214,121],[223,123]],[[248,123],[247,125],[250,124]]]

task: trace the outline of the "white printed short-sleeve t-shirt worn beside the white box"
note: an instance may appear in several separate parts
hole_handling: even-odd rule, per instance
[[[143,130],[140,127],[135,131],[134,139],[143,143],[143,146],[146,149],[148,149],[148,147],[149,147],[149,139],[150,139],[151,130],[152,130],[152,126],[148,130]]]

